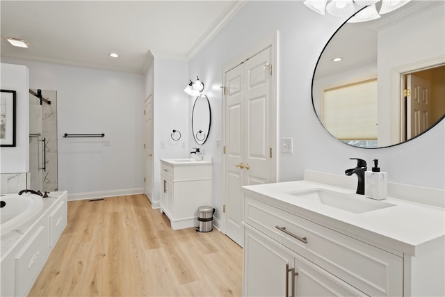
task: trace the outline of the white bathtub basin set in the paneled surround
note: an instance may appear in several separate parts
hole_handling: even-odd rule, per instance
[[[42,197],[29,193],[1,195],[0,200],[1,204],[4,204],[0,208],[1,235],[22,225],[43,207]]]

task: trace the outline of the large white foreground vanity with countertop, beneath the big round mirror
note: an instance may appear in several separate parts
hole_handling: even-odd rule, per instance
[[[444,296],[442,207],[307,181],[244,193],[244,296]]]

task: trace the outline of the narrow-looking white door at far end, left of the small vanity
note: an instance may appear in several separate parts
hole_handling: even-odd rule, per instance
[[[153,195],[153,100],[150,94],[144,102],[144,193]]]

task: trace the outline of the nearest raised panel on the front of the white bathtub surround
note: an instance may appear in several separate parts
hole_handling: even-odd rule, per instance
[[[47,259],[48,252],[48,230],[40,225],[15,256],[15,296],[28,294]]]

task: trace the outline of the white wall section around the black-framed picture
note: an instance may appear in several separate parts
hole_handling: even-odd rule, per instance
[[[0,148],[0,173],[29,172],[29,70],[7,63],[0,68],[1,89],[16,91],[15,147]]]

